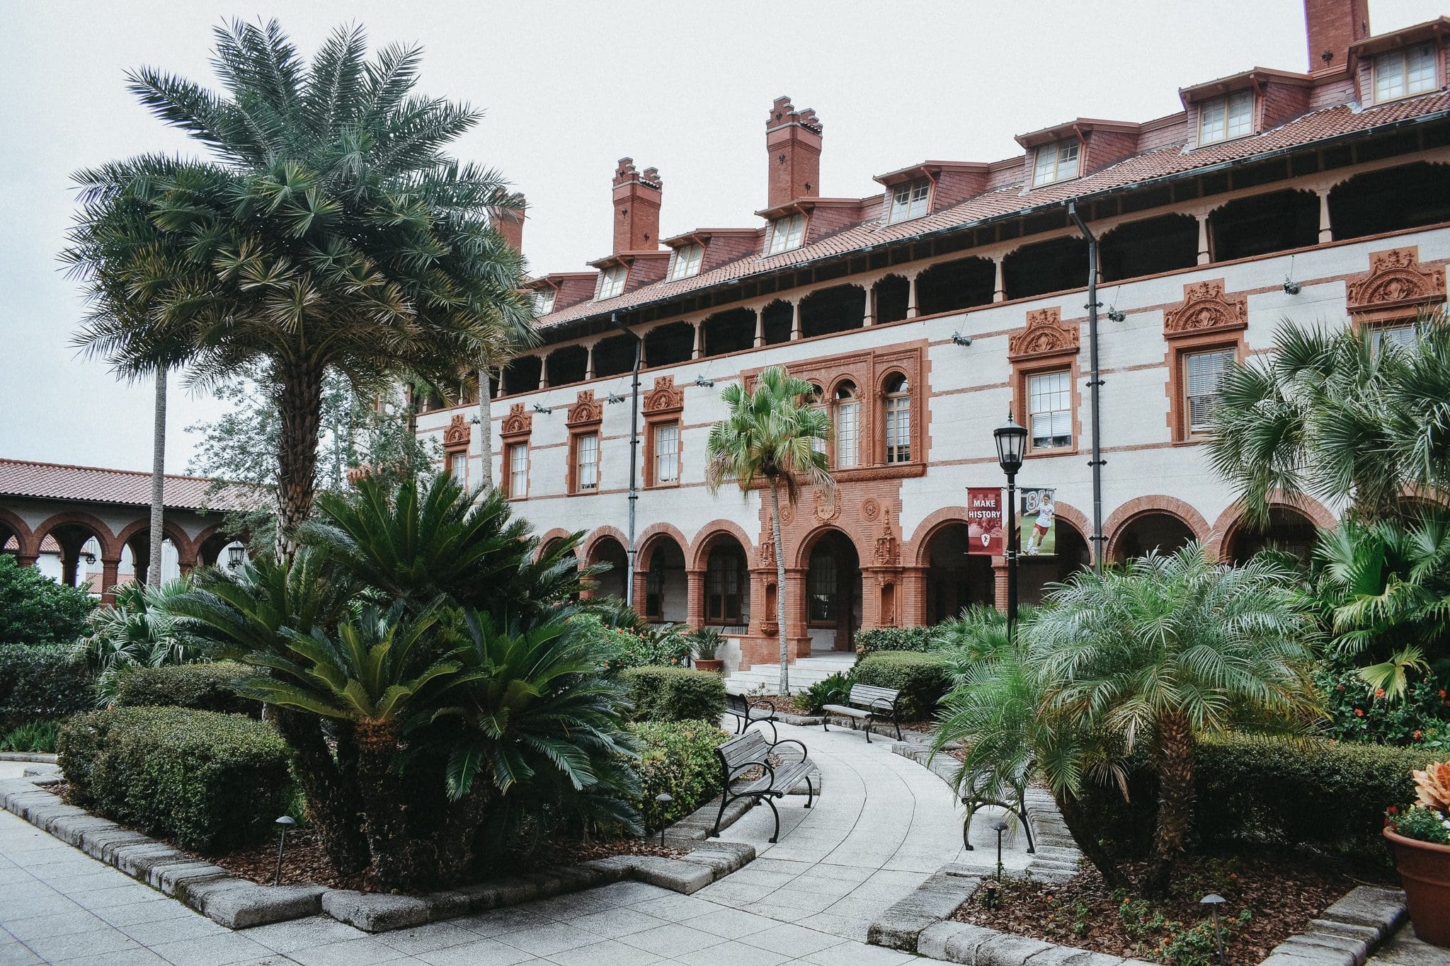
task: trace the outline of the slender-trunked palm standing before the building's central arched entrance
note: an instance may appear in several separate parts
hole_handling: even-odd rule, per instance
[[[815,387],[784,366],[770,366],[753,392],[732,382],[721,392],[729,416],[710,427],[705,482],[710,492],[734,479],[748,495],[761,479],[770,485],[770,533],[776,550],[776,624],[780,633],[780,694],[790,694],[790,652],[786,643],[786,553],[780,542],[780,491],[795,505],[802,482],[835,485],[825,459],[831,420],[809,403]]]

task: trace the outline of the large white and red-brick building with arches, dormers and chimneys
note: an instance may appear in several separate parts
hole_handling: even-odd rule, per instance
[[[1208,465],[1218,374],[1270,352],[1283,319],[1406,337],[1444,303],[1450,262],[1450,17],[1373,35],[1366,0],[1305,9],[1306,72],[1185,78],[1167,117],[1077,117],[1000,161],[906,164],[866,198],[822,194],[822,120],[777,98],[744,227],[661,238],[661,177],[622,159],[610,252],[531,282],[542,345],[490,387],[494,479],[547,539],[583,530],[622,595],[642,339],[635,604],[724,627],[750,665],[776,650],[776,560],[760,494],[705,487],[728,382],[783,364],[835,427],[834,495],[783,514],[798,656],[1003,601],[1002,559],[964,553],[964,491],[1003,482],[992,430],[1011,408],[1030,430],[1019,481],[1057,488],[1057,553],[1022,565],[1034,600],[1095,552],[1090,233],[1101,552],[1304,546],[1335,507],[1285,505],[1256,532]],[[473,482],[477,411],[431,400],[418,416]]]

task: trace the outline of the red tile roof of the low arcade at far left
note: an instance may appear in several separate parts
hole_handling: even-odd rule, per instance
[[[249,504],[241,487],[212,488],[203,476],[167,476],[170,510],[242,510]],[[151,474],[67,463],[0,459],[0,497],[110,503],[128,507],[151,504]]]

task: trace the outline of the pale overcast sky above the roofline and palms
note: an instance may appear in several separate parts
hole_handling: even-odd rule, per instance
[[[1346,0],[1347,1],[1347,0]],[[1370,0],[1376,33],[1443,0]],[[310,52],[339,22],[425,48],[419,90],[486,109],[455,154],[528,196],[535,274],[609,253],[615,161],[660,168],[661,236],[758,224],[764,120],[780,94],[825,123],[821,191],[922,159],[996,161],[1014,135],[1072,117],[1148,120],[1177,88],[1250,67],[1305,70],[1301,0],[1045,3],[20,3],[0,7],[0,456],[149,469],[148,384],[70,345],[81,306],[55,253],[70,174],[184,151],[125,90],[158,65],[212,83],[212,28],[278,16]],[[167,469],[218,406],[173,381]]]

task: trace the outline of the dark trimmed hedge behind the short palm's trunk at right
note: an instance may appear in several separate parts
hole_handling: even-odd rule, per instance
[[[1222,736],[1198,743],[1193,836],[1199,846],[1312,846],[1386,863],[1385,810],[1414,798],[1414,768],[1436,752],[1325,739]],[[1130,768],[1125,802],[1090,786],[1085,804],[1119,850],[1143,853],[1157,815],[1157,778],[1146,757]]]

